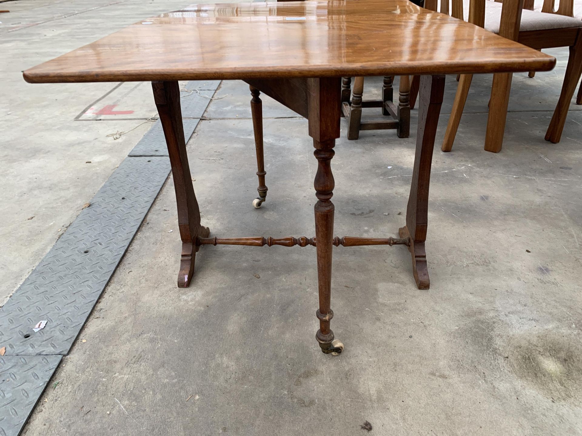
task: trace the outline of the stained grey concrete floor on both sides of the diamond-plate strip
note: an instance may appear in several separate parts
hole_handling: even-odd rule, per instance
[[[26,2],[12,4],[51,4]],[[6,144],[18,145],[3,147],[0,160],[5,294],[149,127],[104,138],[141,122],[73,121],[113,84],[41,89],[19,81],[19,70],[178,6],[130,0],[62,19],[40,55],[30,41],[54,22],[2,35],[13,71],[12,88],[0,92],[13,113],[0,122]],[[104,22],[100,33],[72,39],[87,17]],[[582,434],[582,112],[572,105],[560,144],[544,141],[567,60],[564,49],[548,52],[559,59],[553,72],[514,77],[501,153],[482,150],[487,76],[474,79],[453,152],[435,150],[430,291],[414,286],[401,246],[334,249],[332,328],[346,349],[323,355],[312,247],[205,246],[193,284],[176,288],[170,178],[81,331],[86,342],[63,358],[58,387],[51,383],[24,434],[353,435],[365,420],[382,435]],[[448,79],[438,145],[455,84]],[[378,89],[367,81],[366,92]],[[129,91],[111,104],[155,113],[147,86]],[[211,119],[188,144],[203,223],[218,236],[313,236],[306,121],[264,98],[269,192],[255,210],[249,92],[225,82],[217,95],[225,97],[211,102]],[[416,113],[406,140],[368,131],[347,141],[342,123],[332,160],[336,235],[381,237],[402,226]]]

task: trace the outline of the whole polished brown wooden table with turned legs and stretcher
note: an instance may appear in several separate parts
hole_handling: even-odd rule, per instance
[[[523,1],[523,0],[522,0]],[[504,3],[505,7],[505,3]],[[519,20],[518,20],[519,22]],[[394,38],[398,35],[398,38]],[[432,148],[444,74],[547,71],[555,58],[406,0],[337,0],[193,5],[135,23],[24,72],[30,83],[151,81],[172,164],[182,238],[178,286],[187,287],[201,245],[317,247],[324,353],[340,353],[329,322],[332,247],[406,245],[414,279],[428,289],[424,241]],[[400,238],[333,237],[333,146],[339,137],[341,77],[420,74],[416,155]],[[259,91],[308,119],[315,158],[315,238],[210,238],[200,223],[180,112],[178,80],[242,79],[253,91],[262,158]],[[264,171],[260,171],[264,186]]]

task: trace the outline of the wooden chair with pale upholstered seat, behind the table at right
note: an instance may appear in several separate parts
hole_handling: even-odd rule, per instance
[[[570,101],[582,74],[582,20],[523,9],[523,1],[504,0],[501,3],[470,0],[468,18],[470,23],[535,49],[570,47],[570,58],[562,92],[545,135],[547,141],[556,143],[562,136]],[[553,2],[553,0],[546,1]],[[572,3],[573,0],[562,0],[562,2]],[[453,0],[453,5],[458,10],[466,8],[467,3],[463,5],[462,0]],[[467,17],[466,10],[463,11],[463,16]],[[472,74],[460,76],[455,102],[453,102],[441,147],[442,151],[452,149],[472,78]],[[501,151],[511,81],[511,73],[494,74],[485,134],[485,150],[487,151],[495,153]]]

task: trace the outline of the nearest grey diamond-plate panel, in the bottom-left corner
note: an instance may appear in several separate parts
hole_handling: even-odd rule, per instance
[[[62,356],[0,357],[0,435],[17,436]]]

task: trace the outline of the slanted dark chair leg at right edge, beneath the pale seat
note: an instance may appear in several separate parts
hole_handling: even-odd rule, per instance
[[[548,131],[546,131],[545,139],[546,141],[560,142],[560,137],[562,137],[562,130],[564,129],[564,124],[566,123],[566,116],[568,115],[568,109],[570,108],[570,102],[572,101],[572,96],[574,91],[576,91],[576,86],[580,80],[580,75],[582,74],[582,34],[578,34],[576,45],[570,46],[570,57],[568,58],[568,65],[566,66],[566,74],[564,76],[564,83],[562,84],[562,93],[558,100],[558,105],[553,112],[552,120],[549,122]],[[581,94],[578,93],[578,99],[580,99]]]

